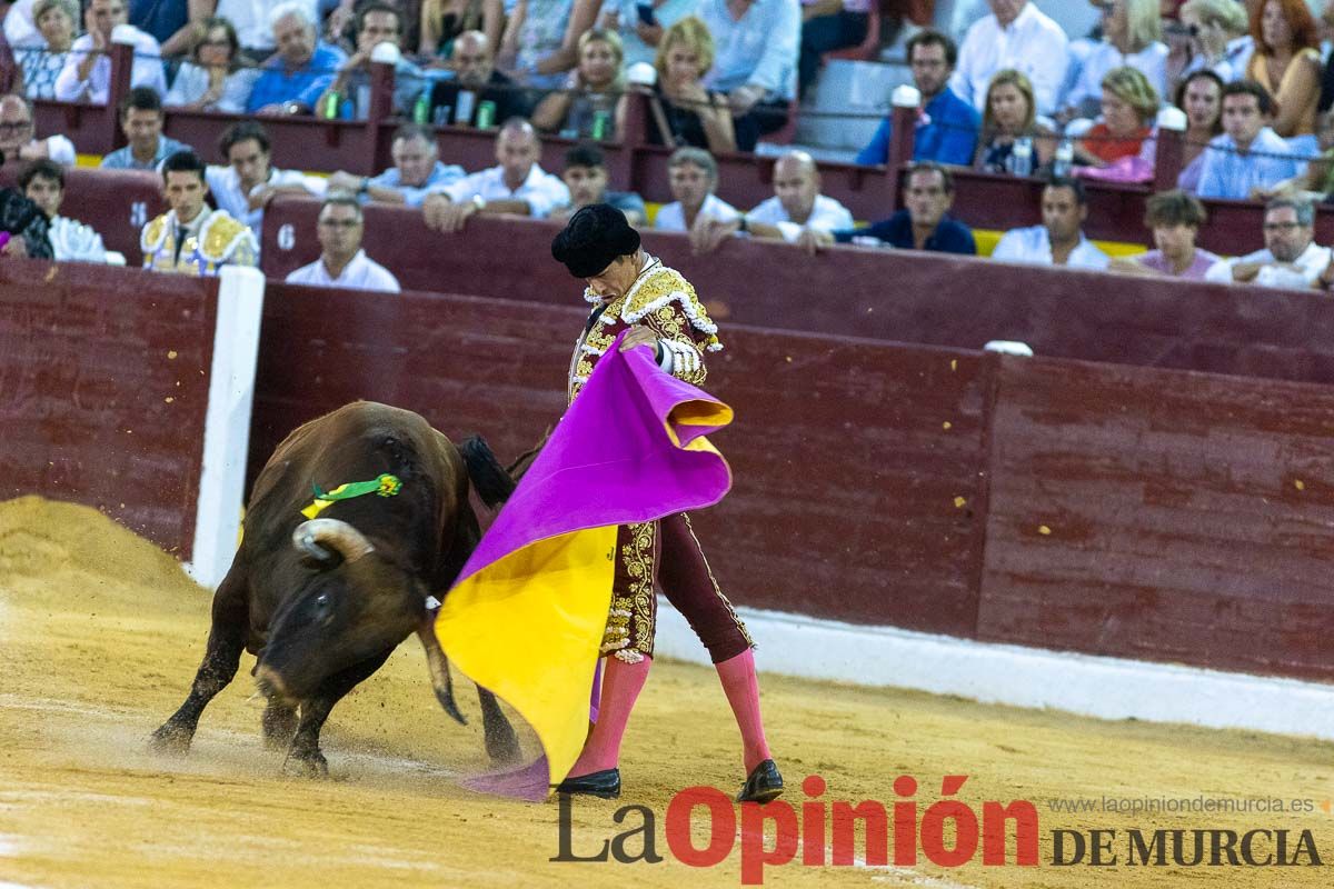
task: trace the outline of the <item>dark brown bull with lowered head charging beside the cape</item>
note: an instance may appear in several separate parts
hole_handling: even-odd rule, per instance
[[[396,481],[378,492],[386,496],[323,493],[386,476]],[[213,594],[204,660],[151,748],[189,749],[200,714],[236,676],[245,649],[267,697],[267,746],[288,749],[284,768],[325,776],[319,738],[329,712],[414,632],[440,705],[464,722],[431,597],[444,594],[480,537],[470,486],[487,505],[512,490],[484,441],[456,446],[410,411],[358,401],[292,432],[255,480],[241,545]],[[316,497],[327,497],[320,509]],[[516,758],[518,738],[496,698],[482,688],[478,697],[487,753]]]

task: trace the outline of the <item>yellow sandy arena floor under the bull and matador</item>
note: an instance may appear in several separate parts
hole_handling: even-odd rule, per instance
[[[0,504],[0,889],[12,886],[683,886],[740,882],[722,865],[676,862],[663,837],[671,794],[735,792],[736,730],[712,673],[659,664],[630,725],[619,802],[579,801],[574,849],[658,814],[656,865],[551,862],[558,806],[480,797],[454,778],[480,768],[476,698],[467,728],[436,706],[415,640],[335,709],[324,732],[332,778],[284,778],[263,749],[260,705],[243,673],[204,713],[187,758],[145,740],[181,701],[203,652],[208,596],[176,564],[97,513],[24,498]],[[892,804],[892,781],[967,774],[959,798],[1031,800],[1042,865],[766,870],[766,885],[1327,886],[1325,868],[1057,868],[1058,828],[1310,829],[1334,862],[1334,814],[1057,814],[1061,797],[1334,798],[1334,746],[1307,740],[1137,722],[1099,722],[891,690],[766,677],[770,740],[800,802]],[[1326,804],[1327,806],[1329,804]],[[698,845],[707,834],[696,829]],[[1123,852],[1118,841],[1118,852]],[[638,849],[638,842],[631,845]]]

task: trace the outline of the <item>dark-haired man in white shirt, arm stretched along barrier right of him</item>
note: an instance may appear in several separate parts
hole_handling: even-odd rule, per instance
[[[324,195],[323,179],[273,169],[268,133],[252,120],[232,124],[217,141],[225,167],[209,167],[204,180],[219,209],[249,227],[259,241],[264,208],[277,195]]]

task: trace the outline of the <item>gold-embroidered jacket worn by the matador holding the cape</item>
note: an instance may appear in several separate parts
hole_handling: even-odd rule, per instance
[[[584,299],[595,305],[602,304],[602,299],[591,291],[584,291]],[[707,376],[704,352],[723,348],[718,341],[718,325],[710,320],[708,312],[695,296],[695,288],[680,272],[650,259],[626,295],[608,303],[575,344],[570,361],[571,401],[588,381],[598,359],[631,324],[650,328],[663,351],[670,355],[672,376],[694,385],[703,384]]]

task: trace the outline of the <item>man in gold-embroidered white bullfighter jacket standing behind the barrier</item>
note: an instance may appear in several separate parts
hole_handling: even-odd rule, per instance
[[[163,161],[163,197],[171,209],[139,236],[144,268],[213,276],[223,265],[255,265],[259,247],[245,224],[204,203],[208,183],[199,155],[183,151]]]

